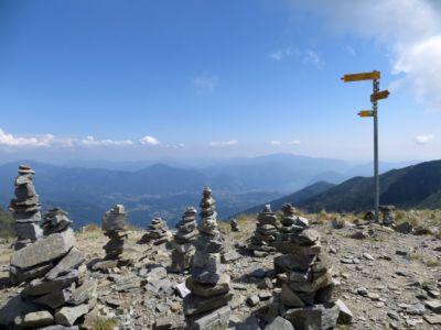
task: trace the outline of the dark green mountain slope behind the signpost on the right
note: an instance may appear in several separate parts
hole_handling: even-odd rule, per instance
[[[353,177],[340,185],[316,183],[269,201],[273,209],[284,202],[306,211],[366,211],[373,208],[372,177]],[[380,204],[399,208],[441,208],[441,161],[424,162],[380,175]],[[256,212],[261,205],[247,209]]]

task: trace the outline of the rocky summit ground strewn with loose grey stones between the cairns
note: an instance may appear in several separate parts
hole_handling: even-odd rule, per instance
[[[312,220],[322,234],[333,276],[341,284],[336,294],[354,316],[351,324],[338,329],[441,329],[441,306],[437,307],[441,301],[441,241],[437,237],[404,234],[363,221],[354,224],[353,218],[341,218],[337,226]],[[236,254],[252,234],[252,218],[241,219],[239,228],[240,232],[230,232],[226,223],[222,226],[227,257],[237,257],[227,264],[234,288],[230,327],[259,329],[259,310],[278,290],[276,278],[271,278],[275,255]],[[130,241],[136,244],[142,234],[131,231]],[[101,246],[107,240],[94,227],[77,233],[77,246],[89,263],[104,256]],[[0,244],[0,305],[22,289],[8,280],[10,243]],[[180,284],[186,275],[166,272],[171,251],[149,244],[136,246],[133,267],[93,273],[99,280],[98,304],[86,318],[88,329],[184,324]]]

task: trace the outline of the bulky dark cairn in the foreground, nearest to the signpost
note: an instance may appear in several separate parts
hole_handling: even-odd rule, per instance
[[[282,280],[281,316],[294,329],[335,327],[338,307],[333,302],[331,267],[321,254],[320,234],[308,226],[293,224],[277,242],[283,255],[275,258],[275,271]]]

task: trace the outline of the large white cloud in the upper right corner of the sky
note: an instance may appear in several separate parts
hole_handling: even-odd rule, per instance
[[[410,90],[429,110],[441,110],[439,0],[291,0],[290,3],[295,10],[300,7],[324,13],[331,28],[374,38],[387,50],[391,72],[402,76],[392,86]]]

